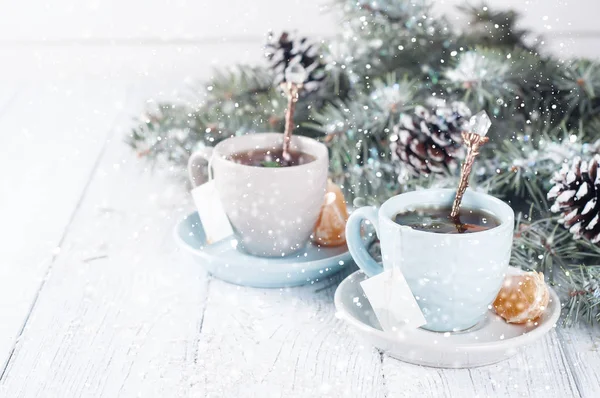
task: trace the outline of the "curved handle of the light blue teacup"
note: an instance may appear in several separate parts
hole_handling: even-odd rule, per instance
[[[375,227],[375,233],[379,236],[379,218],[377,207],[361,207],[356,209],[348,218],[346,223],[346,243],[348,250],[354,258],[356,265],[367,274],[375,276],[383,271],[383,267],[378,264],[367,251],[360,236],[360,227],[363,220],[369,220]]]

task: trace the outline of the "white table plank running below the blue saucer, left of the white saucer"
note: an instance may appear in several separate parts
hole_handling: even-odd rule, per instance
[[[335,317],[341,276],[274,290],[211,280],[192,396],[384,397],[379,353]]]

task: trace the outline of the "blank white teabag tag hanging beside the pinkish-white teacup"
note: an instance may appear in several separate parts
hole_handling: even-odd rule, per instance
[[[215,180],[192,189],[192,197],[206,234],[206,243],[215,243],[233,234],[233,228],[217,193]]]

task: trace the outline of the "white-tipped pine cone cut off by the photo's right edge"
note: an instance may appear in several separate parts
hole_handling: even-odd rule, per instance
[[[553,213],[561,213],[559,222],[569,229],[575,238],[585,237],[592,243],[600,242],[600,155],[590,162],[577,157],[573,164],[563,164],[552,178],[555,184],[548,192],[548,200],[554,200]]]

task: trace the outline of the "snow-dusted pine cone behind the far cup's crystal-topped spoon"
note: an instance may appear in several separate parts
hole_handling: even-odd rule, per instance
[[[279,39],[275,39],[273,33],[269,33],[265,50],[271,69],[275,73],[276,85],[286,81],[286,69],[296,64],[302,65],[306,71],[304,92],[319,89],[325,79],[325,65],[318,54],[318,45],[311,43],[306,37],[294,38],[290,33],[283,32]]]

